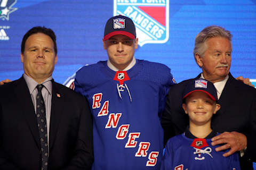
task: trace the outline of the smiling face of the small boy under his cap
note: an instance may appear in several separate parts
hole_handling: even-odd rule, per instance
[[[189,116],[190,125],[211,124],[212,115],[220,109],[220,105],[202,91],[191,93],[182,107]]]

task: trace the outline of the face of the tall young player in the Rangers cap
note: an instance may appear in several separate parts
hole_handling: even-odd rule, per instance
[[[115,35],[106,41],[103,40],[103,47],[107,50],[111,64],[119,70],[124,70],[132,62],[134,50],[138,48],[138,38]]]

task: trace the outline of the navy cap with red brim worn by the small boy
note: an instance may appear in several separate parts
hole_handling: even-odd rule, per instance
[[[205,92],[212,100],[218,103],[217,90],[213,83],[205,79],[191,80],[186,88],[183,90],[183,103],[185,103],[185,98],[195,91]]]

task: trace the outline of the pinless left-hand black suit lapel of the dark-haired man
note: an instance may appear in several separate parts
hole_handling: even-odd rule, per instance
[[[30,129],[30,132],[34,137],[38,148],[40,148],[35,108],[33,105],[33,101],[31,99],[31,95],[29,93],[29,89],[27,87],[27,83],[25,79],[23,79],[23,77],[21,77],[17,81],[17,84],[15,84],[14,94],[17,97],[18,104],[22,108],[22,111],[23,111],[22,113],[24,115],[23,117],[25,117],[25,120]]]

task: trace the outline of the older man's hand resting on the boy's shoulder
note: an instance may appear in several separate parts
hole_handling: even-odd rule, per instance
[[[238,132],[223,132],[220,135],[212,138],[212,146],[223,144],[215,148],[216,151],[230,148],[228,152],[223,154],[228,157],[236,151],[241,151],[247,146],[247,138],[244,134]]]

